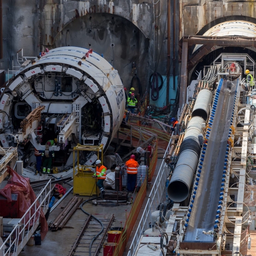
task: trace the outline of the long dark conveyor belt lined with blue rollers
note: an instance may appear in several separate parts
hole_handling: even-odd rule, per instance
[[[235,81],[223,82],[186,231],[187,242],[213,241],[213,237],[203,234],[203,231],[214,230],[235,91]]]

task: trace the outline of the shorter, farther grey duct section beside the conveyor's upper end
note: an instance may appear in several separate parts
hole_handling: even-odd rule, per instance
[[[204,119],[204,121],[207,121],[211,103],[212,103],[212,92],[207,89],[201,90],[198,93],[191,116],[192,117],[201,116]]]

